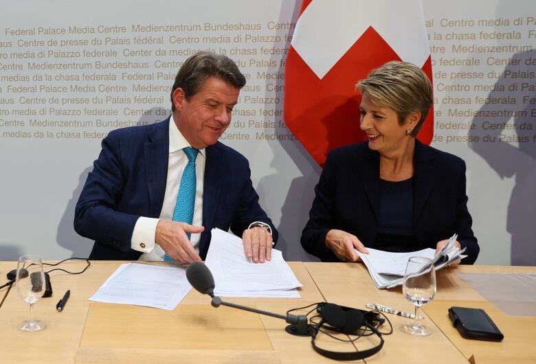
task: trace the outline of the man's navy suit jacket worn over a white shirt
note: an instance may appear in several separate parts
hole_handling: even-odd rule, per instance
[[[158,218],[168,174],[169,122],[113,130],[76,204],[74,228],[95,240],[93,260],[137,260],[131,238],[140,216]],[[231,229],[237,236],[254,221],[268,223],[273,241],[278,233],[258,204],[247,159],[220,142],[205,149],[203,226],[199,255],[205,259],[210,230]]]

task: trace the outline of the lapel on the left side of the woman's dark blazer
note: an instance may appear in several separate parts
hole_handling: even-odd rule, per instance
[[[379,221],[379,154],[367,149],[361,156],[357,161],[357,170],[359,170],[359,176],[363,181],[365,194],[372,207],[372,212],[374,212],[376,220]]]

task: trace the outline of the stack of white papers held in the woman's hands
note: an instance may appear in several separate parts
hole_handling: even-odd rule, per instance
[[[441,249],[438,255],[436,250],[427,248],[419,251],[410,251],[408,253],[391,253],[390,251],[381,251],[367,248],[368,254],[356,252],[368,268],[368,273],[372,281],[378,288],[392,288],[400,286],[404,280],[405,267],[410,257],[425,257],[434,261],[434,268],[438,269],[455,262],[458,259],[465,258],[462,255],[465,249],[459,251],[456,249],[456,239],[458,235],[454,234]]]

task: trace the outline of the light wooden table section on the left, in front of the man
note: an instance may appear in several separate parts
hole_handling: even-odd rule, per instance
[[[4,349],[0,363],[333,363],[313,352],[311,338],[284,332],[283,320],[224,306],[213,308],[209,296],[194,290],[173,311],[89,302],[122,263],[91,262],[82,275],[51,273],[53,297],[42,298],[34,306],[34,318],[47,323],[41,332],[17,329],[27,318],[28,306],[14,287],[0,308]],[[289,264],[303,284],[300,299],[227,300],[278,313],[322,302],[305,266]],[[67,269],[79,271],[83,266],[69,263]],[[0,262],[2,275],[15,268],[16,262]],[[67,289],[71,290],[69,302],[63,312],[56,312],[56,303]],[[0,290],[1,295],[4,292]],[[322,338],[320,342],[331,350],[344,346]]]

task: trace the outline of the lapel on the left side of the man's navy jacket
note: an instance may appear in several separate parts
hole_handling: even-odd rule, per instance
[[[166,181],[168,179],[169,158],[169,118],[155,124],[148,133],[145,145],[145,170],[149,194],[149,216],[160,216]]]

